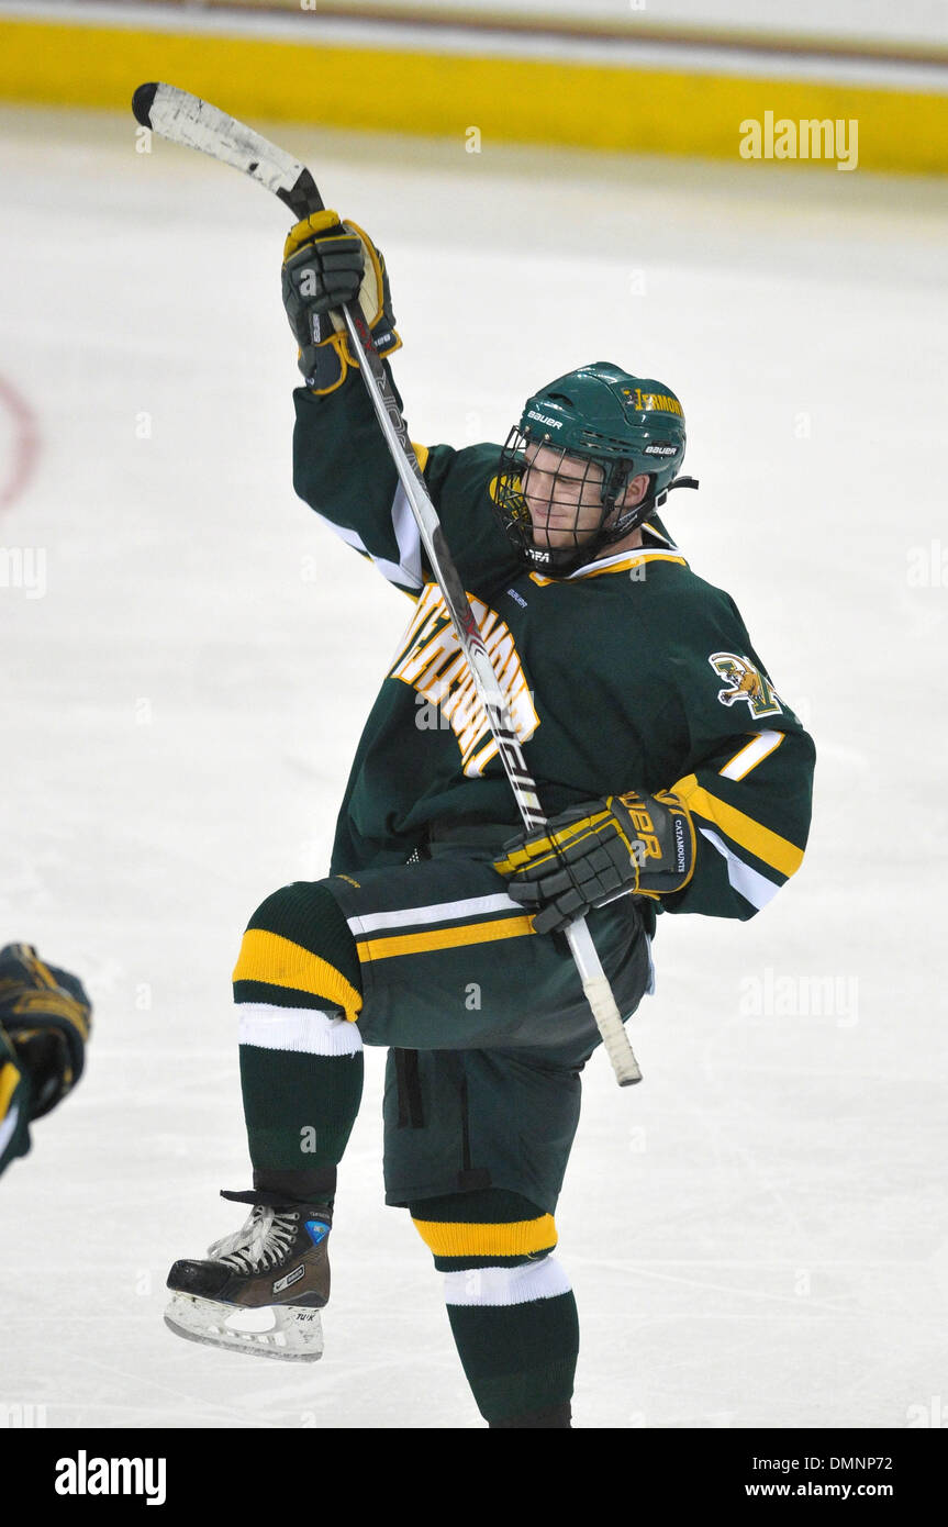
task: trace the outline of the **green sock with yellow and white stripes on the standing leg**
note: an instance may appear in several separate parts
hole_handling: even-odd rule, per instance
[[[579,1319],[551,1255],[553,1215],[501,1188],[423,1199],[415,1229],[444,1272],[447,1318],[492,1428],[569,1426]]]

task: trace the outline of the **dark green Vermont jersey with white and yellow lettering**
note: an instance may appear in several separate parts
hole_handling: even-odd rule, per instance
[[[296,492],[414,602],[356,753],[333,873],[405,863],[435,822],[513,834],[513,794],[362,379],[295,400]],[[661,910],[751,918],[801,861],[814,744],[733,599],[656,518],[641,548],[606,548],[568,577],[528,571],[493,513],[499,446],[415,449],[547,815],[675,789],[698,858]]]

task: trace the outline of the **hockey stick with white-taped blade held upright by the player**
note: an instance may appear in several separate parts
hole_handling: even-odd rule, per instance
[[[244,122],[235,121],[208,101],[166,84],[143,84],[134,92],[131,110],[142,127],[186,148],[198,148],[220,159],[250,179],[258,180],[284,202],[296,218],[324,209],[322,197],[310,171],[292,154],[267,142]],[[458,634],[461,651],[475,681],[475,689],[490,731],[498,744],[501,762],[510,780],[521,817],[527,828],[542,828],[545,815],[536,785],[516,734],[498,676],[487,654],[484,638],[464,592],[455,563],[447,550],[435,507],[429,498],[421,467],[408,438],[401,411],[395,402],[382,359],[372,344],[368,324],[357,302],[342,308],[354,353],[362,356],[360,374],[379,417],[382,434],[418,525],[447,612]],[[585,918],[566,928],[569,951],[583,983],[603,1046],[620,1087],[641,1081],[641,1070],[632,1052],[612,989],[592,944]]]

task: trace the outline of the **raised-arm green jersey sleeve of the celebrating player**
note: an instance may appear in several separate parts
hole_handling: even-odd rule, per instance
[[[333,392],[296,388],[293,397],[296,492],[395,588],[417,599],[434,574],[362,377],[353,371]],[[397,391],[395,397],[401,406]],[[501,447],[414,449],[464,586],[472,592],[496,586],[516,571],[490,505]]]

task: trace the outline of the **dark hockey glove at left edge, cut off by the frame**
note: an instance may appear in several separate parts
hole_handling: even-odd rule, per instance
[[[29,1073],[31,1119],[38,1119],[82,1075],[92,1003],[69,971],[44,965],[29,944],[8,944],[0,950],[0,1025]]]

